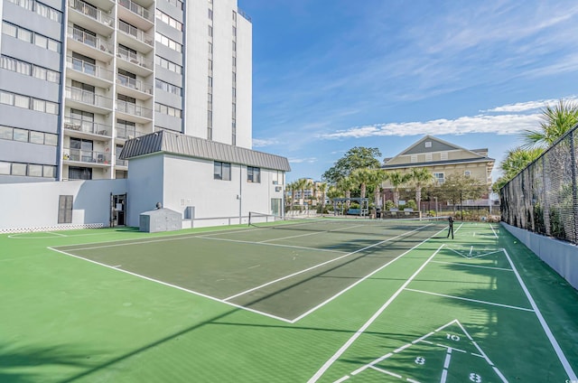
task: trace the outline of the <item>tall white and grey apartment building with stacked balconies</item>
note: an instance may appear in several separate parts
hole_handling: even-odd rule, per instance
[[[0,0],[0,183],[113,179],[166,129],[251,148],[237,0]]]

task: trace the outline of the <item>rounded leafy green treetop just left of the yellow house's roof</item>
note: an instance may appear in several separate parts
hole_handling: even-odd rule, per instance
[[[329,170],[322,175],[322,180],[337,184],[341,178],[349,177],[356,169],[377,169],[381,157],[377,147],[354,147],[341,157]]]

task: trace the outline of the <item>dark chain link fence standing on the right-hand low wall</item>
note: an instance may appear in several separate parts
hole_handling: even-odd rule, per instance
[[[578,125],[500,191],[502,220],[578,244]]]

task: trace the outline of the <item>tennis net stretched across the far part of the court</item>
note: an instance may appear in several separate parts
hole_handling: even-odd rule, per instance
[[[447,227],[447,217],[415,219],[371,220],[333,217],[280,217],[271,214],[249,212],[249,226],[262,229],[303,230],[331,233],[354,233],[359,235],[383,235],[392,230],[439,231]]]

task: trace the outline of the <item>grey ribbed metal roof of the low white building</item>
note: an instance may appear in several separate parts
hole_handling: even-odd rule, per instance
[[[290,172],[289,160],[280,155],[205,140],[191,135],[166,130],[143,135],[126,141],[120,159],[130,160],[146,154],[170,153],[187,157],[239,163],[248,166]]]

